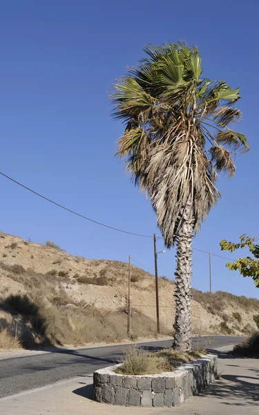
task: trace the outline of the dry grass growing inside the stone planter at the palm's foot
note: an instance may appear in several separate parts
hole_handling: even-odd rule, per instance
[[[173,349],[164,349],[157,353],[148,353],[133,346],[124,354],[122,365],[115,369],[115,373],[124,375],[152,375],[164,371],[174,371],[182,363],[200,358],[198,351],[191,353],[178,352]]]

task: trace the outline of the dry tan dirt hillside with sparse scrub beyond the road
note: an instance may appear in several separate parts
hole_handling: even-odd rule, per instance
[[[84,344],[125,338],[127,278],[128,265],[123,262],[73,257],[55,243],[40,245],[0,232],[0,328],[10,327],[14,315],[13,327],[17,320],[18,326],[23,324],[24,315],[35,313],[44,320],[39,335],[55,338],[55,342]],[[155,333],[154,276],[133,266],[131,281],[133,335],[151,335]],[[173,324],[174,288],[169,279],[160,278],[165,334],[171,333]],[[25,302],[24,295],[37,311],[32,304],[20,304]],[[193,290],[191,313],[194,333],[238,335],[256,329],[253,315],[259,314],[259,301]],[[29,320],[27,326],[35,329],[35,321]]]

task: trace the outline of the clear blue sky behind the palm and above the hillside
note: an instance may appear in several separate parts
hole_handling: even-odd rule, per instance
[[[251,152],[236,176],[220,178],[222,199],[194,247],[218,255],[221,239],[258,236],[258,12],[255,1],[10,0],[0,13],[1,171],[58,203],[108,225],[157,232],[144,194],[114,157],[123,127],[111,118],[112,82],[137,64],[144,44],[184,39],[200,48],[204,75],[240,86],[238,106]],[[102,228],[64,212],[0,177],[0,228],[32,241],[50,239],[73,255],[140,263],[153,269],[152,239]],[[162,241],[158,250],[163,249]],[[244,252],[242,252],[244,254]],[[212,257],[213,291],[259,298],[250,279]],[[173,278],[175,250],[159,257]],[[193,255],[193,286],[209,289],[208,256]]]

